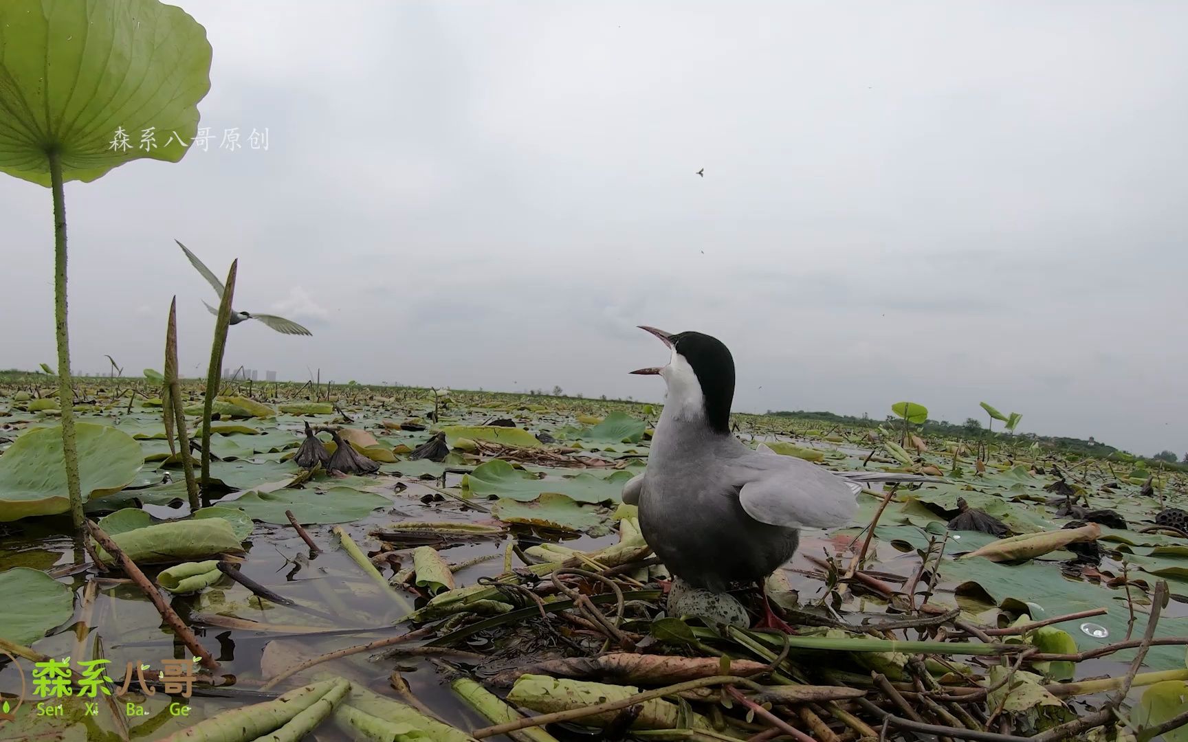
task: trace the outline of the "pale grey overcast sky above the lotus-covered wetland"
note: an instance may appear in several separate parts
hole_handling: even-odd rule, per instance
[[[160,368],[176,293],[204,374],[176,237],[314,332],[232,328],[261,378],[658,401],[650,324],[721,338],[737,411],[1188,449],[1183,4],[179,5],[215,139],[67,185],[77,370]],[[56,364],[49,190],[0,216],[0,366]]]

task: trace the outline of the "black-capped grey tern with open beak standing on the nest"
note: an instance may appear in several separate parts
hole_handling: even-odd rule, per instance
[[[647,468],[624,484],[623,500],[639,506],[644,539],[685,583],[674,582],[670,600],[677,588],[682,595],[688,588],[708,591],[725,611],[715,613],[715,621],[745,619],[727,588],[763,588],[796,552],[801,528],[848,525],[858,510],[858,482],[939,481],[911,474],[834,473],[764,445],[751,449],[729,431],[734,359],[726,345],[701,332],[640,329],[663,341],[671,357],[664,367],[631,373],[663,376],[668,395]],[[764,610],[759,626],[791,630],[771,610],[766,594]],[[677,611],[670,607],[670,613]]]

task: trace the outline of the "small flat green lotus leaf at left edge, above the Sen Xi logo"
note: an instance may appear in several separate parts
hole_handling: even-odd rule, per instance
[[[31,645],[74,615],[70,588],[45,572],[14,566],[0,572],[0,638]]]

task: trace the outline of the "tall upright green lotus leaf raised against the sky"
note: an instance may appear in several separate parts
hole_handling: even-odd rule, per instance
[[[59,154],[64,180],[90,182],[139,158],[176,163],[209,89],[206,30],[179,7],[0,4],[0,171],[8,175],[49,186],[49,152]],[[126,146],[113,146],[118,131]]]

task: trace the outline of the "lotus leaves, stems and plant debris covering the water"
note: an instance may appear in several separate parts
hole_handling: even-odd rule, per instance
[[[106,660],[114,702],[64,696],[5,738],[1048,742],[1188,712],[1174,467],[947,440],[906,427],[915,402],[890,429],[737,414],[744,442],[815,465],[941,475],[864,489],[851,527],[802,535],[767,584],[783,634],[747,628],[753,589],[731,626],[669,600],[621,501],[652,406],[232,382],[191,512],[162,382],[76,383],[91,554],[53,496],[58,411],[33,404],[51,381],[0,387],[0,690],[36,705],[34,662],[70,658],[82,690]],[[197,442],[204,388],[177,389]],[[190,658],[184,697],[163,662]]]

